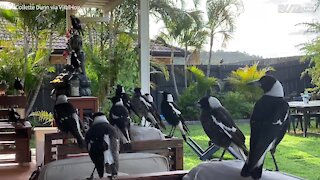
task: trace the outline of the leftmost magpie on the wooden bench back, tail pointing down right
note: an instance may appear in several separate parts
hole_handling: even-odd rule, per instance
[[[54,120],[58,129],[64,133],[71,133],[77,139],[79,147],[85,147],[83,128],[76,108],[68,102],[67,96],[60,94],[54,105]]]

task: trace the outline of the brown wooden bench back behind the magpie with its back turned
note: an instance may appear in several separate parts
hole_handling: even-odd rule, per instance
[[[64,139],[69,139],[63,144]],[[45,134],[44,164],[51,161],[79,156],[87,153],[85,149],[78,148],[77,144],[70,142],[71,135],[63,133]],[[121,152],[152,152],[166,156],[171,170],[183,169],[183,140],[170,138],[165,140],[150,140],[132,142],[130,145],[121,145]]]

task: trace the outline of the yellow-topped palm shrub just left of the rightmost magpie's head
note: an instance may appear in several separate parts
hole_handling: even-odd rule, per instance
[[[258,63],[256,63],[232,71],[227,80],[233,85],[234,91],[242,94],[248,102],[256,102],[263,92],[261,88],[249,86],[248,83],[259,80],[266,72],[272,70],[274,70],[272,67],[258,69]]]

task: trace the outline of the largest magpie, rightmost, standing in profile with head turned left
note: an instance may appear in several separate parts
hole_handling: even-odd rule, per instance
[[[274,153],[289,125],[289,105],[283,98],[281,83],[274,77],[265,75],[251,84],[259,85],[264,95],[256,102],[250,118],[250,153],[241,176],[259,179],[268,151],[278,171]]]

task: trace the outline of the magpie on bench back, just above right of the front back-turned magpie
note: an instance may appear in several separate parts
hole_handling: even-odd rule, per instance
[[[123,134],[124,143],[131,143],[130,138],[130,116],[129,111],[124,106],[120,97],[114,96],[111,98],[112,107],[109,111],[110,124],[116,126]]]

